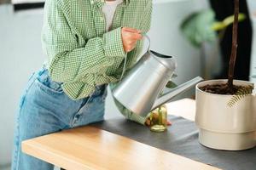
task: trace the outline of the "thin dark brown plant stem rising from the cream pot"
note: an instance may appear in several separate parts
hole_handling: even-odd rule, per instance
[[[234,70],[236,64],[236,51],[237,51],[237,30],[238,30],[238,14],[239,14],[239,0],[235,1],[235,20],[233,24],[232,31],[232,48],[230,54],[230,65],[229,65],[229,81],[228,88],[233,91],[233,80],[234,80]]]

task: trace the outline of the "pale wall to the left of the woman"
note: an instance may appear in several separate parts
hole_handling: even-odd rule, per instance
[[[0,164],[10,161],[15,111],[26,80],[40,67],[42,11],[13,13],[0,6]]]

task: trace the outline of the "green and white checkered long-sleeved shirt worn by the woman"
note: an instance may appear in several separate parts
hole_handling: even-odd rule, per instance
[[[137,61],[143,41],[125,54],[121,27],[146,33],[150,27],[152,0],[124,0],[116,8],[113,30],[106,31],[102,13],[104,0],[46,0],[42,43],[48,56],[46,67],[55,82],[71,99],[83,99],[97,85],[118,82],[125,69]],[[144,119],[128,114],[130,119]],[[138,120],[140,119],[140,120]]]

